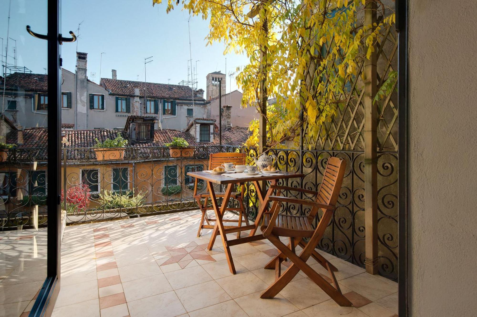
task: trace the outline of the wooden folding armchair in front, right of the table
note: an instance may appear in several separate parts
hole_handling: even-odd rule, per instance
[[[260,296],[261,298],[275,297],[283,287],[290,283],[291,279],[302,270],[340,306],[352,306],[348,298],[343,296],[336,277],[334,276],[333,272],[338,269],[315,250],[315,247],[318,245],[332,218],[341,190],[345,168],[346,161],[343,159],[335,157],[329,158],[318,192],[301,188],[275,186],[278,195],[280,195],[282,190],[292,190],[302,192],[308,196],[313,195],[315,200],[269,196],[268,200],[273,203],[270,212],[264,215],[264,223],[261,226],[261,230],[263,236],[268,238],[270,242],[280,250],[280,254],[265,266],[267,269],[275,269],[275,283]],[[279,211],[282,202],[311,206],[310,214],[308,216],[280,215]],[[268,203],[268,201],[265,203]],[[323,215],[316,228],[313,229],[311,223],[318,209],[323,210]],[[288,246],[280,241],[280,237],[290,238]],[[304,240],[305,238],[310,238],[308,243]],[[298,245],[303,248],[299,256],[295,253],[295,247]],[[306,263],[310,256],[315,258],[321,266],[328,270],[334,287]],[[292,264],[281,274],[280,264],[286,258],[289,258]]]

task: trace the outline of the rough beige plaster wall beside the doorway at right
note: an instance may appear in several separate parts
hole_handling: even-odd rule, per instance
[[[409,2],[411,316],[476,316],[474,0]]]

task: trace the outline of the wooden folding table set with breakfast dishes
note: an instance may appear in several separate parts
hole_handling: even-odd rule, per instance
[[[232,259],[232,254],[230,253],[230,246],[235,246],[242,243],[265,239],[263,235],[261,234],[256,235],[255,233],[257,232],[257,229],[259,228],[264,212],[266,212],[268,209],[268,206],[266,206],[266,204],[263,204],[263,201],[265,200],[266,197],[270,196],[273,193],[274,189],[269,188],[267,190],[267,193],[264,196],[263,191],[261,190],[261,187],[259,185],[259,182],[262,180],[269,180],[271,185],[273,186],[277,183],[279,179],[302,178],[304,176],[303,174],[300,174],[300,173],[281,172],[281,171],[277,172],[277,174],[280,174],[280,175],[260,174],[260,176],[250,176],[249,178],[232,178],[232,177],[228,177],[227,174],[217,175],[217,174],[209,173],[207,171],[187,173],[187,176],[202,179],[207,182],[207,188],[210,194],[210,200],[212,202],[212,207],[214,208],[215,216],[217,219],[207,248],[211,250],[214,246],[215,239],[217,238],[218,235],[220,235],[220,238],[222,238],[222,244],[224,245],[225,255],[227,257],[228,267],[232,274],[236,274],[236,271],[235,271],[235,266]],[[246,182],[252,182],[255,185],[255,188],[257,189],[256,190],[257,198],[259,199],[259,206],[260,206],[259,212],[257,214],[257,218],[255,219],[255,222],[249,226],[241,226],[241,227],[234,226],[232,228],[230,227],[225,228],[224,223],[222,221],[222,217],[224,216],[225,209],[228,204],[228,199],[230,198],[230,194],[232,192],[232,186],[233,184],[246,183]],[[216,199],[213,184],[227,185],[227,188],[224,193],[224,198],[222,200],[222,205],[220,206],[220,208],[217,204],[217,199]],[[250,230],[250,234],[248,237],[237,238],[233,240],[227,239],[228,233],[244,231],[244,230]]]

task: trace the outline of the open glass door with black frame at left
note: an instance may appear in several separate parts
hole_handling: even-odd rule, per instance
[[[60,13],[0,1],[0,316],[49,316],[59,291]]]

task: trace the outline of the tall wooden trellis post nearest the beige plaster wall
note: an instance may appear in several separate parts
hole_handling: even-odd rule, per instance
[[[364,24],[376,23],[376,2],[366,0]],[[373,26],[367,35],[373,33]],[[366,230],[366,252],[364,264],[366,272],[378,273],[378,226],[377,226],[377,108],[373,98],[377,92],[376,49],[369,59],[364,60],[364,209]]]

